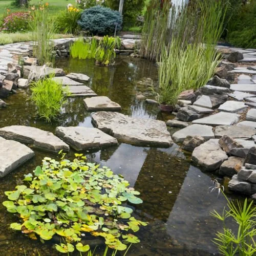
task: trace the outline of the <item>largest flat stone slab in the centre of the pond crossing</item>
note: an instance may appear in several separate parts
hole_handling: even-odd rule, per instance
[[[173,144],[163,121],[132,118],[117,112],[104,111],[92,114],[92,121],[101,131],[129,144],[160,147]]]

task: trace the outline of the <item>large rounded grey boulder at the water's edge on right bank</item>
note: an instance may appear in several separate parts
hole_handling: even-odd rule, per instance
[[[221,149],[218,139],[210,139],[193,151],[192,158],[198,165],[207,171],[219,169],[221,164],[228,159]]]

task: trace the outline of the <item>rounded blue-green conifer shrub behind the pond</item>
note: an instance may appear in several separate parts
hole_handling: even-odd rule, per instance
[[[78,24],[83,30],[92,34],[113,34],[115,31],[115,23],[117,30],[121,29],[122,17],[118,11],[102,6],[94,6],[82,12]]]

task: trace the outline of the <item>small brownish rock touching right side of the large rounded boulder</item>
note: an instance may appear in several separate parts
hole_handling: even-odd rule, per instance
[[[219,175],[232,177],[237,174],[238,170],[243,166],[244,158],[241,157],[229,157],[224,161],[220,167]]]

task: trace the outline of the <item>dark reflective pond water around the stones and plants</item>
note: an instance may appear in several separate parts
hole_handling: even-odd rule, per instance
[[[146,60],[119,56],[114,66],[97,67],[91,60],[61,59],[56,67],[67,73],[84,73],[98,95],[108,96],[122,106],[122,113],[139,118],[164,120],[174,116],[163,114],[155,105],[137,100],[136,94],[150,97],[148,86],[137,84],[143,77],[157,82],[157,67]],[[83,106],[83,98],[69,98],[59,119],[46,123],[36,116],[35,106],[29,100],[29,90],[20,90],[6,99],[8,107],[0,110],[0,127],[30,125],[54,132],[56,126],[91,127],[90,113]],[[170,130],[170,133],[173,131]],[[21,184],[24,174],[40,164],[45,156],[57,159],[58,155],[36,151],[27,164],[0,180],[0,254],[2,255],[58,255],[51,243],[41,244],[9,229],[17,219],[9,214],[2,202],[4,191]],[[74,151],[67,157],[73,158]],[[128,255],[216,255],[217,248],[211,240],[221,223],[210,217],[209,212],[222,211],[226,205],[223,196],[208,193],[216,177],[203,173],[193,166],[190,156],[178,145],[170,148],[138,147],[125,143],[98,151],[86,151],[88,160],[109,166],[115,173],[124,175],[141,193],[143,204],[132,206],[138,216],[148,221],[137,233],[141,243],[131,247]],[[226,184],[225,180],[219,181]],[[234,198],[226,189],[227,196]],[[232,223],[229,223],[232,225]],[[99,248],[100,249],[100,248]]]

